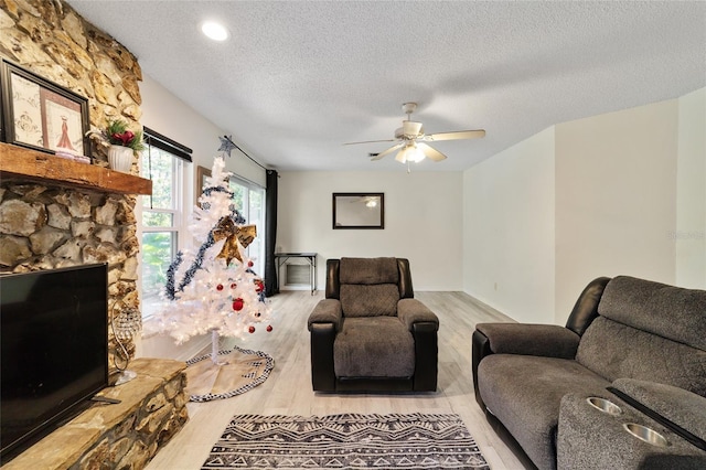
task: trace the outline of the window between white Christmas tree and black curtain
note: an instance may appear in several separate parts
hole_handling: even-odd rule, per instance
[[[228,188],[233,191],[235,209],[240,211],[246,224],[257,227],[257,236],[245,252],[254,258],[253,270],[265,276],[265,189],[238,177],[231,177]]]

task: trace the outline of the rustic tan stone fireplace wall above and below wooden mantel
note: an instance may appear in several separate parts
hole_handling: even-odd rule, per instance
[[[104,127],[106,119],[121,118],[131,129],[140,128],[138,82],[142,76],[127,49],[60,0],[0,0],[0,55],[87,97],[92,126]],[[93,157],[94,164],[107,167],[103,148],[94,147]],[[109,314],[139,308],[136,200],[0,182],[0,270],[105,261],[109,266]],[[115,351],[111,333],[109,344]],[[132,356],[132,342],[128,350]]]

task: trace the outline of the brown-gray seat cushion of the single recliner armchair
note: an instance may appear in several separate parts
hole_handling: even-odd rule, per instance
[[[346,318],[333,343],[336,377],[411,377],[415,341],[397,317]]]

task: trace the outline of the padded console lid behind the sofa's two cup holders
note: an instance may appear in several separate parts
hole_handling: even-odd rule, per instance
[[[609,391],[706,450],[706,397],[656,382],[618,378]]]

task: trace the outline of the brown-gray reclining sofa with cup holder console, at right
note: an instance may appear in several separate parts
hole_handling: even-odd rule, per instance
[[[706,291],[619,276],[566,327],[479,323],[475,398],[541,469],[706,469]]]

